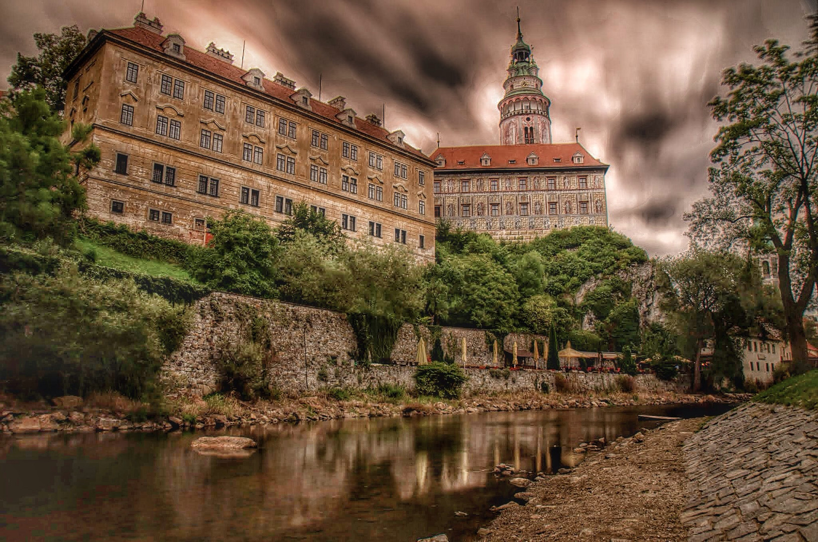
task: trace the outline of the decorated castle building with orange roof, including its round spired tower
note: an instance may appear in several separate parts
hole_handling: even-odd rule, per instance
[[[539,67],[517,40],[503,83],[500,145],[438,147],[434,217],[504,240],[531,240],[555,228],[608,226],[609,166],[579,143],[552,143],[551,101]]]

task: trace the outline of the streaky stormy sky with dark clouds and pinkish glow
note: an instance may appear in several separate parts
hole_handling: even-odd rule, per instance
[[[0,77],[34,32],[132,25],[141,0],[0,0]],[[281,71],[361,116],[386,108],[389,129],[430,153],[497,144],[501,83],[519,5],[554,141],[574,128],[611,164],[609,220],[651,255],[686,247],[681,215],[707,193],[716,125],[707,102],[721,70],[754,44],[798,46],[815,0],[145,0],[166,32],[229,49],[245,68]]]

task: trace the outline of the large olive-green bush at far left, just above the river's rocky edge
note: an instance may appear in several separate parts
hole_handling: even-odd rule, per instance
[[[0,275],[0,385],[20,396],[151,397],[185,319],[133,280],[101,283],[76,267]],[[162,322],[173,333],[163,335]]]

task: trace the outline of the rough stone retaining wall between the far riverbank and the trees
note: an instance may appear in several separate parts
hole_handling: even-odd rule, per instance
[[[546,382],[554,389],[554,374],[544,370],[492,370],[493,335],[482,329],[438,328],[403,325],[398,331],[390,360],[393,365],[372,364],[366,368],[354,361],[357,343],[353,328],[344,314],[279,301],[250,298],[230,293],[211,293],[194,307],[191,332],[164,365],[164,379],[174,387],[196,394],[218,390],[220,375],[216,360],[249,343],[253,321],[266,327],[270,348],[265,354],[272,382],[285,393],[299,393],[320,387],[377,387],[391,383],[414,387],[418,335],[431,352],[435,331],[443,352],[463,365],[461,341],[465,338],[469,381],[467,392],[499,392],[538,389]],[[509,334],[506,350],[517,341],[528,348],[535,336]],[[537,336],[537,338],[542,338]],[[502,353],[497,365],[505,364]],[[485,366],[488,369],[477,367]],[[613,374],[568,374],[573,389],[616,388]],[[689,383],[667,383],[653,375],[639,375],[636,385],[644,391],[684,391]]]

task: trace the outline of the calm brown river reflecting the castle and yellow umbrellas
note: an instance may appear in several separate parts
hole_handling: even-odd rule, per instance
[[[518,488],[495,464],[553,473],[580,441],[630,436],[637,414],[729,405],[491,412],[229,428],[0,436],[0,540],[474,540]],[[190,449],[258,441],[244,459]],[[456,514],[465,513],[466,515]]]

